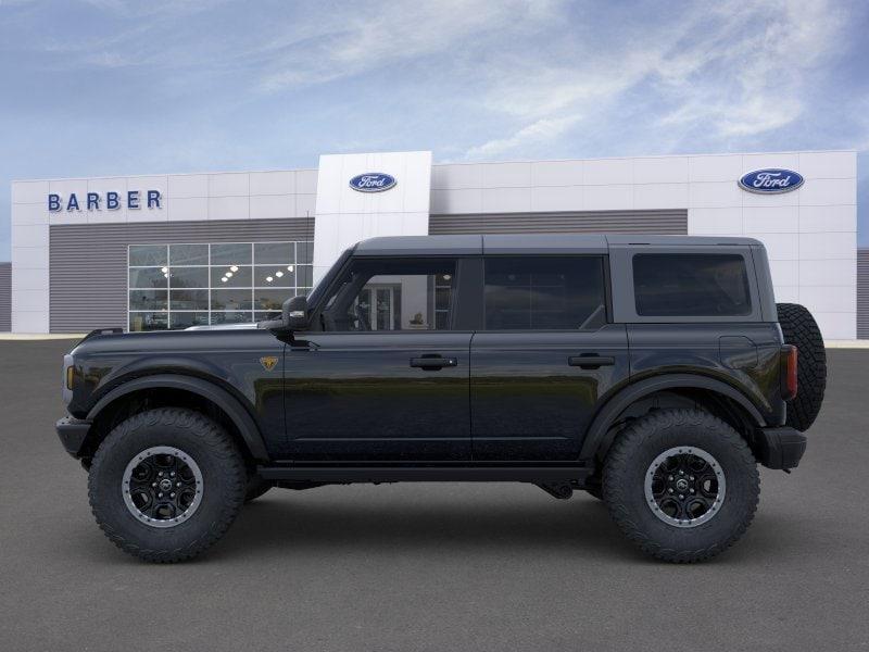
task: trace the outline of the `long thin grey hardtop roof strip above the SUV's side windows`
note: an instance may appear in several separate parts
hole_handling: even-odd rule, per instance
[[[473,255],[481,253],[607,253],[610,246],[715,247],[760,244],[754,238],[592,234],[392,236],[362,240],[356,255]]]

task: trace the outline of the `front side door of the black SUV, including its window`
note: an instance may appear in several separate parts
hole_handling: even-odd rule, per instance
[[[470,460],[470,330],[452,258],[351,259],[287,347],[293,460]]]

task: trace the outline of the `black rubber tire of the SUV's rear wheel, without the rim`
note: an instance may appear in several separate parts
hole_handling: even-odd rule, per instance
[[[677,527],[656,516],[644,492],[645,474],[663,452],[695,447],[713,455],[725,473],[723,502],[708,522]],[[703,410],[662,410],[631,423],[606,456],[603,496],[613,519],[643,552],[667,562],[714,557],[745,532],[760,492],[757,463],[728,424]]]

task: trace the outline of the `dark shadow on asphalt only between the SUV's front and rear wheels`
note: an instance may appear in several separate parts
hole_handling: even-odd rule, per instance
[[[316,489],[314,490],[316,491]],[[579,493],[579,492],[578,492]],[[339,494],[336,494],[339,496]],[[306,501],[305,492],[256,501],[207,556],[237,556],[292,550],[429,552],[473,548],[479,551],[549,549],[583,556],[642,559],[609,519],[604,505],[584,494],[570,501],[376,500],[351,503]],[[216,553],[216,554],[215,554]]]

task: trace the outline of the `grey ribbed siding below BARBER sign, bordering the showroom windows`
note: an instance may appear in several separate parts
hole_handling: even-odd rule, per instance
[[[52,225],[50,330],[127,325],[127,246],[310,240],[312,218]]]

